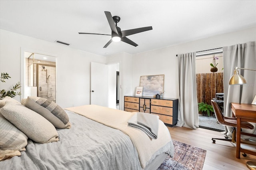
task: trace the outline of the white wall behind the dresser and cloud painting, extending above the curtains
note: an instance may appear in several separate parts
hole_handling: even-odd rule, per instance
[[[164,97],[178,98],[179,59],[176,54],[214,49],[250,41],[256,41],[256,27],[132,55],[131,90],[133,92],[136,86],[139,85],[140,76],[142,75],[164,74]],[[126,95],[133,95],[133,93]]]

